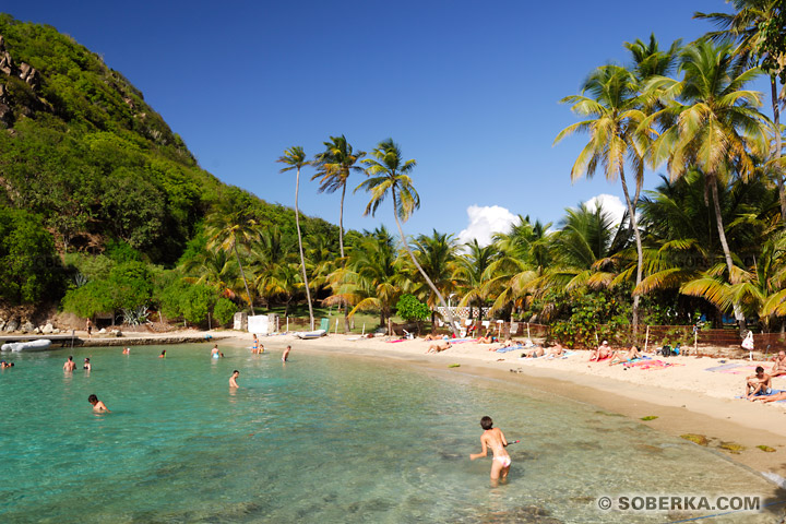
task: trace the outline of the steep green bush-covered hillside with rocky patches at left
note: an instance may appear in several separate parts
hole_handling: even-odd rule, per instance
[[[210,209],[245,202],[295,233],[294,212],[198,165],[142,93],[51,26],[0,14],[0,206],[40,215],[60,252],[123,241],[174,264]],[[337,227],[306,218],[306,235]]]

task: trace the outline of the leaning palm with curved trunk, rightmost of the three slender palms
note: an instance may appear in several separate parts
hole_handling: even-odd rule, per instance
[[[409,258],[418,269],[426,283],[431,290],[437,295],[439,302],[448,313],[449,323],[454,335],[458,335],[455,323],[453,321],[453,313],[448,309],[442,294],[433,285],[433,282],[428,277],[426,272],[422,270],[418,261],[415,259],[409,243],[404,236],[404,229],[402,229],[401,221],[406,222],[413,212],[420,207],[420,196],[418,195],[415,187],[409,178],[409,172],[415,169],[417,163],[414,159],[404,160],[402,158],[401,148],[393,142],[393,139],[388,139],[380,142],[377,148],[371,153],[374,158],[367,158],[364,160],[366,167],[366,175],[370,178],[365,180],[360,186],[355,188],[355,191],[365,189],[371,193],[371,200],[366,206],[364,216],[371,213],[374,215],[379,205],[384,201],[388,193],[390,193],[393,200],[393,217],[395,218],[396,227],[398,228],[398,235],[401,235],[402,243]]]

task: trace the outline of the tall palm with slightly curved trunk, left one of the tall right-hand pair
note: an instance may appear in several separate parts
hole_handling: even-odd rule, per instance
[[[636,286],[642,278],[642,239],[636,224],[635,201],[631,199],[626,179],[624,165],[628,162],[633,169],[638,196],[644,178],[644,152],[646,136],[639,131],[644,119],[641,110],[640,85],[629,70],[619,66],[604,66],[590,74],[582,93],[591,96],[574,95],[562,98],[560,103],[572,104],[571,109],[591,119],[563,129],[555,139],[555,144],[576,132],[590,133],[590,142],[580,153],[571,169],[571,180],[586,175],[592,178],[598,166],[603,166],[606,179],[612,181],[619,177],[628,205],[628,219],[631,223],[636,245]],[[639,296],[633,296],[633,333],[639,325]]]

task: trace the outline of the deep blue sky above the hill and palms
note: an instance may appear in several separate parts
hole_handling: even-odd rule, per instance
[[[294,203],[294,174],[275,162],[286,147],[311,156],[345,134],[371,151],[392,136],[418,162],[421,209],[408,234],[458,234],[468,210],[481,223],[510,213],[557,222],[595,195],[621,198],[603,177],[571,184],[586,139],[552,147],[576,121],[558,100],[593,68],[624,62],[624,41],[651,33],[662,47],[689,41],[711,28],[694,11],[728,10],[720,0],[0,4],[103,55],[203,168],[266,201]],[[303,171],[301,211],[337,223],[338,195],[319,194],[312,172]],[[656,182],[650,174],[647,187]],[[348,194],[345,227],[394,228],[389,204],[361,216],[367,200]]]

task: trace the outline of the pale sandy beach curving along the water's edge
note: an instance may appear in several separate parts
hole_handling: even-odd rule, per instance
[[[177,334],[128,333],[121,338],[172,336],[215,340],[221,345],[249,346],[250,333],[235,331],[186,331]],[[207,337],[211,337],[210,340]],[[473,380],[502,380],[511,388],[535,388],[557,398],[585,402],[639,420],[659,431],[680,437],[703,436],[707,449],[764,474],[786,488],[786,402],[762,404],[736,398],[745,392],[745,378],[761,365],[772,362],[731,358],[678,356],[654,360],[667,367],[626,367],[608,360],[590,362],[590,352],[576,350],[563,358],[520,358],[523,349],[497,353],[500,344],[463,342],[439,354],[427,354],[431,342],[422,338],[395,341],[331,334],[300,340],[291,334],[260,337],[266,350],[293,346],[293,355],[320,352],[384,359],[395,366],[418,366],[462,373]],[[94,337],[93,344],[98,343]],[[458,365],[458,366],[455,366]],[[720,368],[720,369],[717,369]],[[786,377],[773,379],[776,390],[786,390]],[[644,417],[657,417],[641,420]],[[726,445],[726,448],[724,448]],[[758,446],[775,451],[763,451]]]

